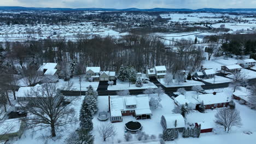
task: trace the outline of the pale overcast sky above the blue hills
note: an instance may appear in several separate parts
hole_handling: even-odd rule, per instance
[[[256,0],[0,0],[0,6],[49,8],[256,8]]]

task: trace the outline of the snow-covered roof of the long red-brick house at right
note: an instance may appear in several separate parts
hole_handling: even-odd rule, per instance
[[[204,105],[211,105],[211,104],[220,104],[220,103],[228,103],[230,102],[231,98],[226,93],[216,93],[216,95],[209,93],[209,94],[200,94],[196,98],[199,101],[203,101]]]

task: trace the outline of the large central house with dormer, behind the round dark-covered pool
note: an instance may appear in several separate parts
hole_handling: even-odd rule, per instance
[[[151,118],[148,96],[109,96],[109,111],[111,122],[122,122],[122,116],[133,116],[136,119]]]

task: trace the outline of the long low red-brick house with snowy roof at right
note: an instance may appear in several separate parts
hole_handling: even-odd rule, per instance
[[[227,107],[231,98],[225,93],[208,93],[208,94],[200,94],[195,97],[199,103],[203,101],[203,105],[205,105],[205,109],[212,109],[216,107]]]

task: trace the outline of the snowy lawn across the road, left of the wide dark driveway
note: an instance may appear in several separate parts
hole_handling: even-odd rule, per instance
[[[69,81],[73,82],[73,87],[72,87],[73,91],[80,91],[80,84],[79,84],[79,79],[77,76],[74,76]],[[65,85],[65,83],[67,83],[67,81],[64,81],[63,79],[59,79],[59,82],[57,82],[57,85],[63,86],[63,85]],[[89,82],[89,81],[82,80],[81,89],[82,89],[82,91],[87,91],[87,87],[91,85],[94,88],[94,90],[96,91],[98,88],[98,83],[99,83],[98,81]]]

